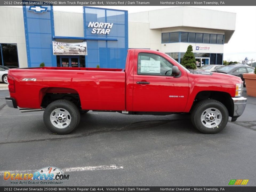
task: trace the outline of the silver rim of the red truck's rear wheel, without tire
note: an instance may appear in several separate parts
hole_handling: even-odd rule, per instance
[[[62,129],[69,126],[71,116],[66,109],[57,108],[51,112],[50,121],[55,127]]]

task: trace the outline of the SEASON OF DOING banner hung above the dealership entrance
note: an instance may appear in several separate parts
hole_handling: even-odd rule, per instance
[[[54,55],[87,55],[87,43],[63,43],[53,41]]]

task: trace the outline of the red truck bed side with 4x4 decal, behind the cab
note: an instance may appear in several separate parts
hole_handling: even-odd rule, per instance
[[[40,108],[47,93],[69,93],[79,94],[84,110],[125,110],[122,69],[36,67],[10,69],[8,75],[16,89],[10,96],[21,108]]]

